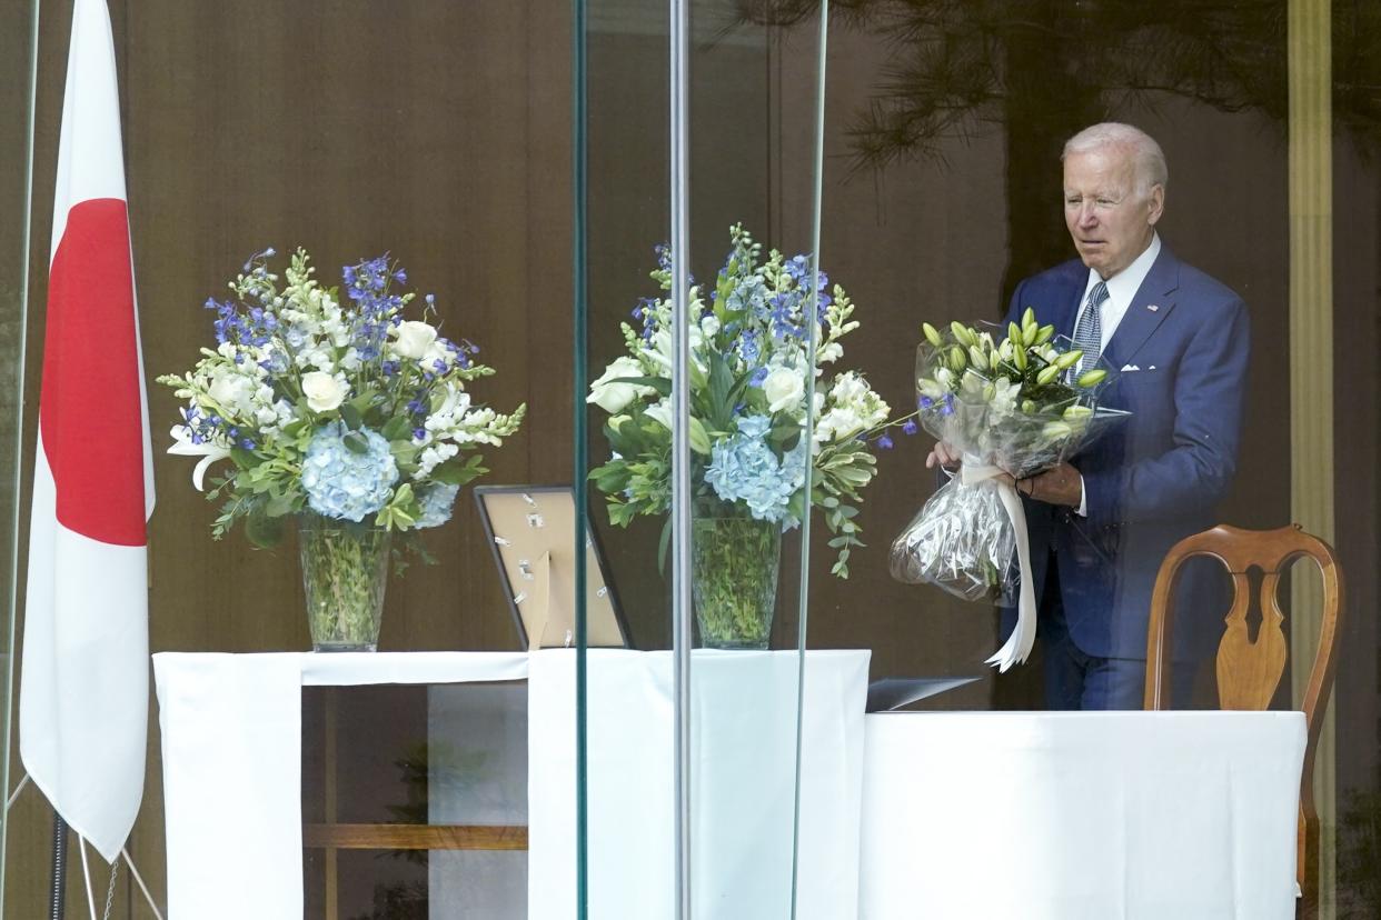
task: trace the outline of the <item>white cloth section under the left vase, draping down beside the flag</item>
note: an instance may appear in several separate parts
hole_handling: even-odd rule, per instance
[[[301,920],[304,684],[522,680],[526,654],[153,657],[170,920]]]

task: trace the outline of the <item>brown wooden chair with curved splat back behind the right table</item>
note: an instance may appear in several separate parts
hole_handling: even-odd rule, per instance
[[[1313,753],[1323,727],[1323,713],[1333,690],[1337,665],[1338,626],[1342,619],[1342,570],[1333,548],[1298,524],[1280,530],[1240,530],[1226,524],[1175,543],[1160,566],[1150,599],[1150,629],[1146,637],[1146,709],[1170,705],[1171,619],[1175,583],[1181,567],[1195,556],[1210,556],[1232,575],[1233,603],[1225,618],[1226,632],[1218,644],[1218,703],[1222,709],[1261,710],[1271,706],[1286,668],[1287,640],[1282,630],[1277,589],[1280,577],[1301,556],[1312,559],[1323,572],[1323,625],[1319,652],[1309,670],[1304,695],[1308,743],[1304,777],[1300,782],[1298,881],[1306,916],[1317,906],[1319,821],[1313,810]],[[1247,614],[1251,610],[1248,570],[1261,571],[1261,623],[1251,641]]]

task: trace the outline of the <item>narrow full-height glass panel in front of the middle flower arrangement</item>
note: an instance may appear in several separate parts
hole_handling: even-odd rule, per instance
[[[681,212],[667,186],[677,156],[667,146],[667,29],[677,4],[595,0],[588,8],[590,306],[588,342],[577,348],[590,378],[664,381],[634,381],[623,392],[621,385],[597,386],[601,406],[588,417],[592,521],[609,549],[637,647],[684,651],[670,600],[682,585],[696,647],[685,697],[673,681],[674,655],[590,654],[590,916],[660,916],[679,898],[673,876],[678,706],[689,721],[681,840],[692,913],[787,916],[801,676],[801,541],[787,523],[798,523],[804,508],[808,444],[802,317],[816,197],[815,39],[804,29],[804,40],[793,34],[789,43],[762,10],[689,4],[678,127],[686,138],[689,196]],[[674,241],[681,219],[684,251],[659,246]],[[802,258],[791,261],[797,254]],[[668,430],[677,360],[673,273],[682,259],[695,286],[686,332],[692,360],[684,366],[689,494],[671,486]],[[778,367],[798,385],[793,393],[775,379],[784,394],[771,408],[764,378]],[[729,457],[735,451],[742,457]],[[747,466],[750,454],[764,463],[757,473]],[[742,469],[729,469],[735,463]],[[685,531],[668,520],[674,508],[686,514]],[[631,772],[637,783],[623,779],[610,789],[616,778],[601,775],[615,752],[620,779]],[[649,817],[620,821],[638,796],[646,796]],[[649,881],[630,884],[630,877]]]

